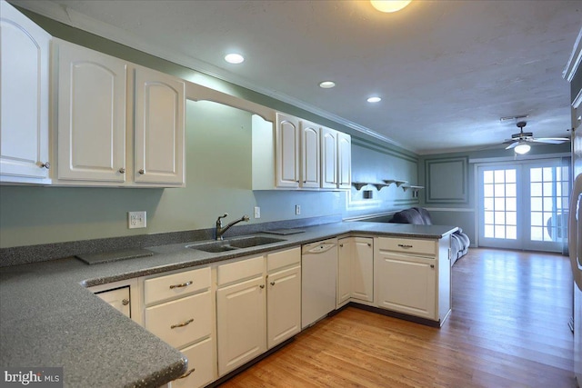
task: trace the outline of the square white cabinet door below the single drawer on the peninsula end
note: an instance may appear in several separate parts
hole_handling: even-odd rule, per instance
[[[380,251],[376,257],[378,307],[438,320],[436,260]]]

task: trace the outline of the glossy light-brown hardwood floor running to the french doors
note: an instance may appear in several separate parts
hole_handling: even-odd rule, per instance
[[[471,249],[442,328],[348,307],[221,387],[576,387],[567,257]]]

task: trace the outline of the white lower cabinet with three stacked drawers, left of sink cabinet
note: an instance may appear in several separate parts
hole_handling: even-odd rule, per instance
[[[187,372],[171,387],[201,387],[216,379],[215,313],[210,267],[148,276],[144,326],[184,353]]]

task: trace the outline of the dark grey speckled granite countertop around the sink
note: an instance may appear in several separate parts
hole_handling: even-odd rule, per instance
[[[22,368],[63,366],[67,387],[160,386],[186,372],[186,357],[85,287],[344,234],[438,239],[457,227],[358,222],[302,229],[301,234],[268,234],[285,239],[281,243],[221,254],[188,249],[186,243],[168,244],[148,247],[152,256],[106,264],[88,265],[68,257],[0,268],[0,363]]]

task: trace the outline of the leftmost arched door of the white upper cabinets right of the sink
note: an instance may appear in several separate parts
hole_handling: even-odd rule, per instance
[[[276,114],[276,185],[299,187],[299,123]]]

